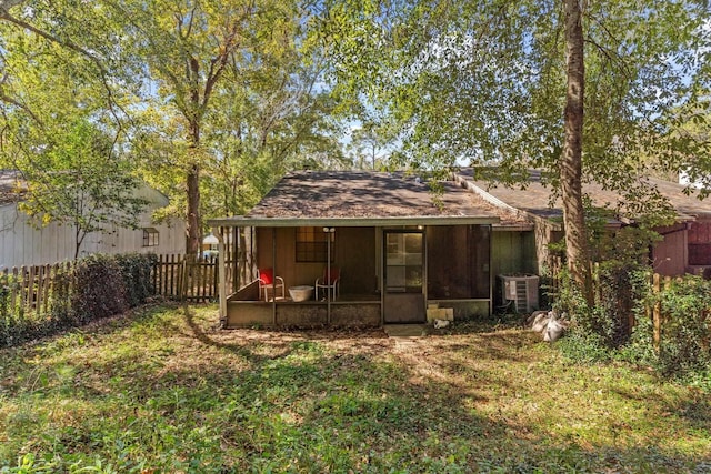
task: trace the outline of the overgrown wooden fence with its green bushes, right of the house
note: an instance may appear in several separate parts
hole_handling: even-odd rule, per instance
[[[711,281],[615,263],[593,265],[593,306],[567,272],[551,285],[553,305],[575,322],[571,349],[592,351],[589,355],[617,351],[673,377],[711,375]]]

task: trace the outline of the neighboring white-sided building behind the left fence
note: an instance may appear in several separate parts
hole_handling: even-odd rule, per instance
[[[38,228],[32,218],[18,209],[16,186],[17,174],[0,171],[0,270],[72,260],[73,226],[51,222]],[[184,253],[186,232],[181,222],[151,222],[153,211],[168,205],[168,198],[147,185],[137,194],[149,202],[139,215],[138,229],[110,226],[103,232],[89,233],[79,256],[92,253]]]

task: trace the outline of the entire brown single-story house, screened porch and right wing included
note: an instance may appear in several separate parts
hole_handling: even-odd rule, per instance
[[[535,309],[538,275],[553,264],[549,244],[563,229],[560,202],[551,203],[540,173],[530,178],[525,189],[512,189],[464,169],[437,195],[403,173],[289,174],[247,215],[209,222],[219,239],[234,235],[242,255],[234,263],[241,268],[230,270],[243,284],[229,292],[220,285],[223,325],[419,323],[428,307],[452,309],[461,319],[491,314],[504,300],[519,311]],[[709,273],[711,202],[685,195],[680,184],[649,182],[678,212],[673,225],[658,230],[653,270]],[[594,183],[584,191],[600,206],[620,199]],[[608,228],[631,224],[620,216]],[[269,271],[266,284],[260,270]],[[336,291],[319,288],[334,270]]]

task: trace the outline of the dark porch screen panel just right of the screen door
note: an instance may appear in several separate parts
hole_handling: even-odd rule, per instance
[[[491,233],[488,225],[430,226],[427,242],[429,299],[489,297]]]

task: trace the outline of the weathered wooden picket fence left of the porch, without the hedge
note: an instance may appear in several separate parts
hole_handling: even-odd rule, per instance
[[[69,275],[74,262],[53,265],[20,266],[0,270],[0,307],[3,314],[33,312],[48,314],[56,295],[72,291]],[[226,276],[228,292],[236,288],[233,259],[228,254]],[[158,255],[151,282],[153,294],[170,300],[202,303],[219,295],[218,258],[190,259],[186,255]],[[7,315],[6,314],[6,315]]]

